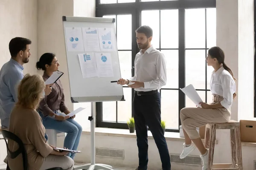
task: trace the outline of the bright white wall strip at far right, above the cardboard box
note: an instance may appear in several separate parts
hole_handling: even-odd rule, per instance
[[[238,1],[238,119],[254,117],[254,0]]]

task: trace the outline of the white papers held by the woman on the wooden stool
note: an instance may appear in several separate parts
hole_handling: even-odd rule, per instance
[[[183,91],[183,93],[186,94],[186,96],[188,96],[188,98],[192,100],[192,102],[194,102],[196,106],[201,108],[201,105],[199,105],[199,103],[203,102],[203,100],[198,95],[192,84],[186,86],[185,88],[180,88],[180,90]]]

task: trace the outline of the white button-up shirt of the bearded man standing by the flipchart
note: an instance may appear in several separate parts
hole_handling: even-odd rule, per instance
[[[148,48],[143,54],[142,50],[136,54],[134,61],[135,75],[129,79],[131,81],[144,82],[144,88],[135,88],[135,91],[152,91],[159,90],[166,85],[166,59],[160,51]]]

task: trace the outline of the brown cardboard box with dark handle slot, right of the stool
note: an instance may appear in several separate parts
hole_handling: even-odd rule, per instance
[[[242,142],[256,142],[256,121],[240,120]]]

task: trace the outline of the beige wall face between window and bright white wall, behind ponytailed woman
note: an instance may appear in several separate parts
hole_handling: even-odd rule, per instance
[[[227,12],[229,8],[232,10]],[[216,0],[216,15],[216,44],[224,50],[225,63],[238,79],[238,0]],[[233,120],[238,118],[237,98],[231,108]]]

